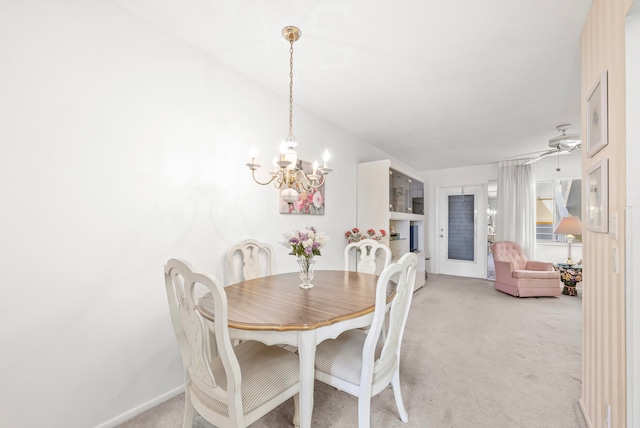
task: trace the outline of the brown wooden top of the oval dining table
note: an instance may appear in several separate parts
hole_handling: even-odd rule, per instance
[[[311,330],[373,312],[378,277],[367,273],[317,270],[303,289],[300,274],[284,273],[225,287],[230,328],[243,330]],[[395,290],[390,290],[390,301]],[[200,313],[213,320],[211,295],[201,299]]]

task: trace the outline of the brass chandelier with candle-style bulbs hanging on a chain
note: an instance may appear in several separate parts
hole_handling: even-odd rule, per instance
[[[273,183],[276,188],[282,189],[282,200],[289,204],[298,200],[298,190],[308,192],[322,186],[326,175],[332,171],[327,164],[329,152],[325,150],[323,165],[319,166],[318,161],[315,161],[313,172],[304,172],[295,149],[298,143],[293,137],[293,42],[298,40],[301,34],[297,27],[288,26],[282,29],[282,35],[289,41],[289,137],[280,145],[280,154],[274,160],[275,169],[267,181],[261,182],[256,178],[256,170],[260,165],[256,163],[258,152],[255,147],[251,148],[251,162],[247,164],[256,183],[263,186]]]

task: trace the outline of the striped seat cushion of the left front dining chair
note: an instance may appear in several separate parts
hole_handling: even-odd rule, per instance
[[[242,409],[245,415],[300,380],[299,357],[280,346],[267,346],[250,340],[235,346],[233,350],[242,373]],[[218,386],[226,390],[227,377],[220,358],[211,361],[211,370]],[[208,407],[228,416],[225,403],[210,397],[193,384],[192,390]]]

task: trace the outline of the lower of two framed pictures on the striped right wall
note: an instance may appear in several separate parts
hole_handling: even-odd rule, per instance
[[[587,229],[608,233],[609,159],[603,158],[587,170]]]

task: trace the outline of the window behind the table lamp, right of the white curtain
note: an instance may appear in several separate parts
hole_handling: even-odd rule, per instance
[[[553,231],[562,217],[571,214],[582,220],[582,180],[561,179],[536,183],[536,242],[566,242]],[[582,235],[573,242],[582,242]]]

